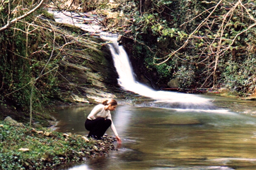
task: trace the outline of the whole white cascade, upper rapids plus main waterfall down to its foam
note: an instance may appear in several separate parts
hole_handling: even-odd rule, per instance
[[[212,109],[214,106],[211,104],[209,99],[199,97],[198,95],[183,94],[179,92],[167,92],[167,91],[156,91],[138,83],[134,78],[134,72],[132,66],[129,63],[129,57],[126,51],[117,43],[118,35],[101,32],[100,26],[93,23],[93,18],[88,18],[88,15],[81,15],[78,13],[68,13],[64,15],[64,12],[59,13],[58,11],[50,11],[54,14],[54,18],[59,23],[72,23],[83,30],[92,32],[94,35],[100,33],[100,37],[103,40],[110,41],[109,47],[112,53],[112,57],[115,63],[115,68],[119,75],[118,82],[124,90],[135,92],[144,97],[150,97],[155,99],[155,102],[147,103],[149,107],[165,107],[175,109]],[[76,17],[71,18],[70,17]],[[82,20],[91,21],[91,25],[81,23]],[[144,104],[144,106],[146,103]]]

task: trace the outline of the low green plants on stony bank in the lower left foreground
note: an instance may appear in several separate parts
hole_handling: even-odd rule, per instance
[[[44,135],[45,133],[49,135]],[[101,143],[103,145],[103,143]],[[64,162],[77,162],[83,157],[103,154],[95,140],[85,142],[81,135],[65,137],[46,128],[29,128],[0,122],[0,169],[53,169]],[[113,148],[111,143],[105,144]],[[26,148],[28,151],[19,150]]]

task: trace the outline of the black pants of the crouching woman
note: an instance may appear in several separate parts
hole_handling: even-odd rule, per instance
[[[86,119],[85,127],[89,130],[88,138],[100,139],[105,134],[107,128],[111,126],[112,121],[105,118],[97,118],[95,120]]]

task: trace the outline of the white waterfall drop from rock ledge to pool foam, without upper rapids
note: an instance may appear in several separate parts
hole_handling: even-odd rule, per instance
[[[156,91],[138,83],[134,78],[134,72],[129,62],[126,51],[117,42],[117,35],[101,32],[100,37],[109,41],[110,51],[115,63],[115,68],[119,75],[118,82],[124,90],[135,92],[136,94],[156,99],[151,102],[151,107],[170,107],[182,109],[209,109],[212,104],[209,99],[196,95],[183,94],[179,92]]]

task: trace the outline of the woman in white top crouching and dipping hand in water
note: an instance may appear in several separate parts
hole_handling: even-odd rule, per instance
[[[110,114],[110,111],[114,111],[116,107],[117,101],[115,99],[108,99],[93,108],[85,122],[86,130],[90,131],[88,138],[102,139],[107,128],[111,127],[117,142],[122,142]]]

